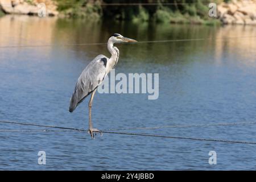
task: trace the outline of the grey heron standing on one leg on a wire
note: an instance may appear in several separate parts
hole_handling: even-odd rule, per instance
[[[100,130],[94,129],[92,125],[92,102],[94,94],[97,87],[102,83],[105,76],[115,67],[119,59],[119,50],[114,47],[114,43],[121,42],[137,42],[137,40],[125,38],[120,34],[114,34],[110,36],[108,40],[108,51],[111,53],[111,57],[108,58],[104,55],[98,55],[95,57],[87,67],[82,71],[80,77],[77,80],[75,90],[70,99],[69,112],[73,112],[89,94],[90,101],[89,107],[89,133],[92,139],[94,138],[94,133],[98,132],[101,134]],[[102,134],[101,134],[102,135]]]

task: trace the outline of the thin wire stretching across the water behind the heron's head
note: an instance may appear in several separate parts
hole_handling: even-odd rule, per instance
[[[227,38],[196,38],[196,39],[172,39],[172,40],[148,40],[148,41],[141,41],[135,42],[133,44],[140,44],[140,43],[168,43],[168,42],[190,42],[190,41],[202,41],[202,40],[225,40],[225,39],[245,39],[245,38],[256,38],[256,36],[235,36],[235,37],[227,37]],[[99,45],[106,45],[107,43],[80,43],[80,44],[61,44],[61,45],[54,45],[54,44],[46,44],[46,45],[21,45],[21,46],[0,46],[0,48],[32,48],[32,47],[56,47],[56,46],[99,46]],[[122,43],[126,44],[126,43]]]

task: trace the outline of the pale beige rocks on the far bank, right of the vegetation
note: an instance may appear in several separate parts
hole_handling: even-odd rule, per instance
[[[217,6],[218,17],[224,24],[256,25],[256,0],[232,0]]]

